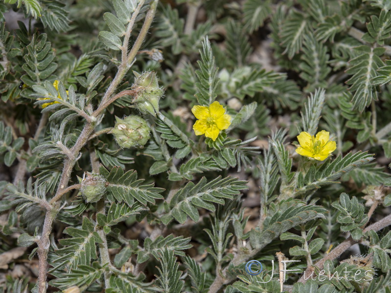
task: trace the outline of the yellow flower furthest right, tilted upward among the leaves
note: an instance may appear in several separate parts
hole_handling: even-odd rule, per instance
[[[297,136],[300,146],[296,148],[296,152],[318,161],[325,160],[337,148],[336,143],[329,140],[329,135],[325,130],[319,131],[316,137],[303,131]]]

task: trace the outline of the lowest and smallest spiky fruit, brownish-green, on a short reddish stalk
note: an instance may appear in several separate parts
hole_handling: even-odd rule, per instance
[[[99,174],[86,172],[80,191],[87,203],[96,203],[106,193],[106,179]]]

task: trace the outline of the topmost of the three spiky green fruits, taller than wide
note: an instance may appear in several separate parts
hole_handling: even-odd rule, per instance
[[[156,116],[159,111],[159,100],[163,96],[163,90],[159,87],[156,73],[147,71],[139,74],[133,71],[136,80],[132,89],[136,91],[133,100],[134,105],[141,113],[150,113]]]

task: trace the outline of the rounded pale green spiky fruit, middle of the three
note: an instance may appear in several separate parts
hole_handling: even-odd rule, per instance
[[[150,139],[151,128],[147,121],[135,115],[130,115],[124,119],[115,117],[117,123],[111,130],[115,141],[122,148],[132,146],[144,146]]]

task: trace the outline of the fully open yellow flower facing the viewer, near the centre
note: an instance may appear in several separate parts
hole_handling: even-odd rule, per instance
[[[231,116],[225,114],[225,108],[217,101],[209,107],[196,105],[192,112],[198,120],[193,125],[195,135],[205,134],[213,141],[216,141],[221,130],[227,129],[231,125]]]

